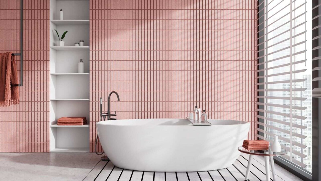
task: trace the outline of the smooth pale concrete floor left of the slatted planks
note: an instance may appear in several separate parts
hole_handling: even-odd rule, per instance
[[[83,180],[100,157],[95,153],[0,153],[0,180]]]

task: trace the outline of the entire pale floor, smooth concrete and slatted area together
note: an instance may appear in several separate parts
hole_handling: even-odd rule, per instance
[[[243,181],[248,159],[247,154],[241,154],[233,166],[210,172],[168,172],[166,174],[164,172],[145,172],[143,174],[139,171],[114,167],[112,162],[100,162],[100,157],[95,153],[0,153],[0,181],[105,181],[106,179],[111,181],[153,181],[153,176],[155,181],[156,178],[165,181],[164,176],[168,181],[187,181],[189,179],[191,181],[213,181],[214,177],[215,181]],[[252,162],[255,167],[251,167],[249,180],[265,180],[263,158],[255,156]],[[275,165],[275,168],[277,180],[301,180],[278,165]],[[177,174],[176,177],[175,174]]]

